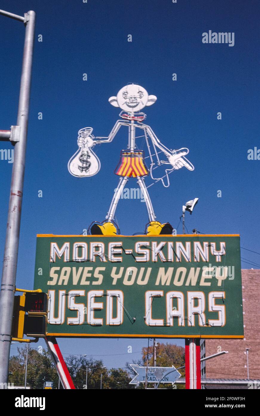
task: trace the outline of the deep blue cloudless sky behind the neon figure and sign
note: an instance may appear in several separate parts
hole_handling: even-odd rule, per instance
[[[108,98],[128,82],[157,96],[144,110],[147,124],[168,148],[188,147],[195,166],[193,172],[182,168],[172,173],[169,188],[160,183],[149,188],[158,220],[176,228],[182,204],[198,197],[194,213],[187,215],[190,232],[239,233],[242,247],[260,252],[260,161],[247,158],[248,149],[260,149],[257,0],[2,0],[1,8],[37,14],[17,287],[33,286],[37,233],[80,234],[93,220],[104,220],[127,131],[121,129],[112,144],[95,147],[101,161],[96,176],[75,178],[67,163],[77,150],[80,128],[92,126],[96,136],[109,134],[119,109]],[[16,124],[24,28],[6,17],[0,21],[0,128],[9,129]],[[202,33],[209,30],[234,32],[235,45],[203,44]],[[37,41],[39,34],[43,42]],[[1,148],[12,146],[2,142]],[[1,160],[0,258],[11,171],[12,164]],[[130,186],[136,187],[134,179]],[[119,201],[116,215],[125,235],[142,232],[148,222],[140,201]],[[242,250],[241,255],[252,262],[243,262],[242,268],[259,268],[258,254]],[[64,353],[125,354],[104,355],[108,367],[138,358],[146,344],[133,339],[60,341]],[[127,354],[128,345],[138,354]]]

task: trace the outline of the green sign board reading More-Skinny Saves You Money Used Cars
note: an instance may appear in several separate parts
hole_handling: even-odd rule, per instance
[[[56,337],[243,338],[239,235],[37,235]]]

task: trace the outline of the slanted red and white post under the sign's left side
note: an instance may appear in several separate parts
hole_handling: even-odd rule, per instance
[[[53,362],[58,371],[63,389],[75,389],[72,378],[70,377],[70,373],[68,372],[68,367],[66,366],[66,362],[64,361],[61,350],[57,344],[56,338],[45,337],[45,341],[51,354],[51,358],[53,359]]]

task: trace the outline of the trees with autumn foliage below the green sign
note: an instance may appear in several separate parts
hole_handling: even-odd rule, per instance
[[[17,355],[10,358],[9,382],[15,386],[24,385],[26,346],[17,348]],[[141,366],[146,366],[147,347],[142,348],[142,357],[138,362]],[[102,375],[102,389],[134,389],[135,386],[129,385],[135,373],[129,364],[127,369],[107,369],[102,360],[94,360],[91,357],[70,355],[66,358],[66,364],[73,379],[76,389],[100,389]],[[153,345],[148,350],[148,365],[153,366]],[[185,349],[173,344],[160,344],[156,347],[156,366],[179,368],[185,365]],[[103,368],[102,368],[103,367]],[[182,377],[185,377],[185,368],[179,370]],[[27,366],[27,386],[32,389],[43,389],[44,381],[53,381],[53,389],[58,388],[58,374],[52,362],[48,350],[43,349],[40,354],[36,349],[29,345],[28,366]],[[153,384],[149,384],[152,387]],[[172,389],[171,384],[164,384],[161,388]],[[62,386],[60,385],[62,389]],[[144,389],[144,384],[140,384],[138,389]],[[177,389],[184,389],[185,385],[177,384]]]

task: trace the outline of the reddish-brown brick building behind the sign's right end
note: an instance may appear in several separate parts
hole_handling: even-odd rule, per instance
[[[260,379],[260,270],[242,270],[242,293],[244,338],[202,340],[206,356],[228,351],[205,362],[207,379]]]

